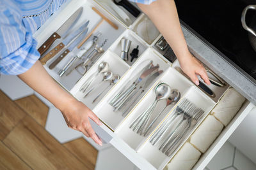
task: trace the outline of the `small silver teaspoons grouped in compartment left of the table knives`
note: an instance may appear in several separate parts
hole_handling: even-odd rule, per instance
[[[96,81],[99,77],[102,77],[101,81]],[[100,89],[99,87],[102,86],[104,83],[109,82],[109,85],[102,90],[95,99],[93,99],[92,103],[95,103],[99,97],[106,92],[109,87],[115,85],[115,83],[120,79],[118,74],[113,74],[109,71],[109,64],[108,62],[100,62],[98,69],[95,73],[93,73],[88,80],[86,80],[81,88],[79,89],[80,92],[83,92],[84,97],[87,97],[93,90]],[[93,83],[93,84],[92,84]]]

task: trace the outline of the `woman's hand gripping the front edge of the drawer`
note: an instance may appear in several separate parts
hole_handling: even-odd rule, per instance
[[[99,118],[83,103],[74,99],[72,102],[68,103],[67,106],[61,109],[61,113],[65,118],[68,127],[83,132],[88,138],[92,138],[95,143],[102,146],[102,141],[99,139],[97,134],[92,129],[89,122],[91,118],[98,125],[102,125]]]

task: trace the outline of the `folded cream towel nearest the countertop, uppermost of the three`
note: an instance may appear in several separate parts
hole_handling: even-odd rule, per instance
[[[227,126],[237,111],[239,111],[244,101],[245,98],[239,92],[233,88],[228,89],[211,114]]]

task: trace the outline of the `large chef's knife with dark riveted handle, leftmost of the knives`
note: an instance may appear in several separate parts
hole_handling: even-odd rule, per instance
[[[38,48],[38,52],[40,53],[40,55],[44,54],[56,39],[65,38],[67,36],[68,31],[76,24],[77,20],[79,20],[79,18],[81,17],[82,11],[83,7],[76,10],[76,12],[74,12],[71,17],[69,17],[68,20],[66,20],[56,32],[53,32],[53,34],[45,41],[45,43],[40,46],[40,48]]]

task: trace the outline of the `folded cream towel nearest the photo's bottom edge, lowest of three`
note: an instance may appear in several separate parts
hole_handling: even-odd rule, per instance
[[[201,153],[190,143],[185,143],[179,152],[167,164],[168,170],[189,170],[196,164]]]

